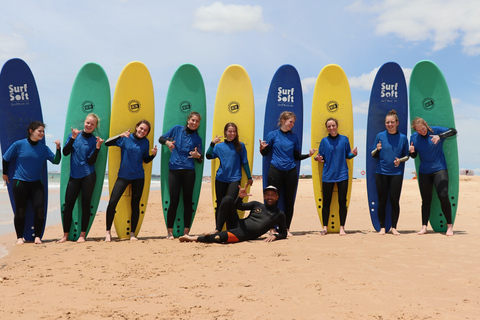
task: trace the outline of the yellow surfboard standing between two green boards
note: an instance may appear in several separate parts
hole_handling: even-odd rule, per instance
[[[130,129],[135,132],[135,125],[146,119],[150,122],[151,129],[147,136],[150,142],[150,150],[153,148],[155,139],[155,105],[153,98],[153,83],[147,67],[138,61],[130,62],[122,70],[113,95],[112,113],[110,118],[110,137],[123,133]],[[117,180],[120,168],[120,148],[110,147],[108,157],[108,186],[110,194]],[[150,180],[152,176],[152,162],[143,164],[145,171],[145,185],[140,200],[140,217],[138,219],[135,236],[138,235],[147,209],[148,195],[150,192]],[[118,202],[115,213],[115,230],[119,238],[130,238],[131,210],[131,185],[127,187]]]

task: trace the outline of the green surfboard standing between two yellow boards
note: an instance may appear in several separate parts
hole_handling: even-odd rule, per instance
[[[203,78],[197,67],[191,64],[181,65],[170,81],[170,86],[167,92],[167,101],[165,103],[165,113],[163,116],[162,133],[166,133],[175,125],[186,125],[187,116],[192,111],[197,111],[202,120],[197,129],[198,135],[202,139],[203,149],[202,154],[205,155],[205,132],[206,132],[206,97],[205,86]],[[165,217],[165,224],[167,223],[167,210],[170,205],[170,192],[168,187],[168,162],[170,161],[170,150],[167,146],[161,148],[161,193],[162,193],[162,208]],[[193,189],[193,218],[198,206],[198,198],[200,197],[200,189],[202,187],[203,177],[203,163],[195,161],[195,186]],[[187,227],[191,227],[187,226]],[[183,235],[185,224],[183,221],[183,195],[180,196],[180,201],[177,209],[177,216],[175,224],[173,225],[174,237]]]

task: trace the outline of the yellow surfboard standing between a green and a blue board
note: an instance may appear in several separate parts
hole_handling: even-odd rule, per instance
[[[237,125],[240,141],[245,144],[247,150],[248,165],[252,171],[253,166],[253,144],[255,138],[255,104],[253,100],[253,89],[247,71],[240,65],[231,65],[225,69],[220,83],[218,84],[217,97],[215,99],[215,112],[213,115],[212,140],[215,136],[224,136],[223,129],[228,122]],[[225,138],[225,137],[224,137]],[[208,149],[210,142],[205,143]],[[220,161],[212,160],[212,199],[214,208],[217,207],[215,196],[215,176]],[[245,171],[242,174],[242,186],[245,186],[248,179]],[[250,187],[247,191],[250,190]],[[248,197],[243,199],[248,201]],[[243,211],[238,211],[240,218],[243,218]]]

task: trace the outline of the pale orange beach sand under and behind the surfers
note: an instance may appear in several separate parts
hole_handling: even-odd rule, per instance
[[[300,180],[294,236],[218,245],[166,240],[160,191],[136,242],[105,243],[99,212],[84,244],[13,246],[0,259],[1,319],[478,319],[480,177],[461,177],[455,235],[420,229],[417,182],[404,182],[398,229],[378,235],[354,180],[346,236],[319,236],[311,180]],[[261,199],[261,181],[251,199]],[[192,234],[214,227],[204,183]],[[12,230],[13,231],[13,230]]]

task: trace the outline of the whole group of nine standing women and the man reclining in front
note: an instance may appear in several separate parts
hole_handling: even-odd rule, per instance
[[[256,239],[270,230],[265,241],[285,239],[291,236],[290,225],[294,213],[295,194],[298,185],[298,175],[295,161],[307,159],[315,154],[317,149],[310,149],[308,154],[301,154],[301,145],[298,136],[292,132],[295,125],[295,114],[282,112],[279,117],[278,129],[270,132],[265,141],[260,140],[262,156],[271,154],[272,160],[268,171],[268,187],[264,189],[264,203],[252,201],[243,202],[249,196],[248,185],[252,185],[251,170],[247,161],[245,145],[239,140],[238,128],[235,123],[227,123],[223,137],[215,136],[207,152],[207,159],[219,159],[220,167],[215,177],[215,195],[217,208],[215,211],[215,230],[203,236],[189,235],[192,223],[193,187],[195,181],[195,162],[203,161],[203,145],[197,129],[201,123],[201,116],[192,112],[187,117],[185,125],[176,125],[166,131],[159,139],[170,151],[168,186],[170,204],[167,210],[167,239],[174,239],[173,225],[180,195],[184,201],[184,235],[180,241],[198,242],[238,242]],[[72,128],[63,148],[63,156],[70,156],[70,179],[65,194],[65,210],[63,216],[64,235],[58,242],[68,239],[72,223],[72,211],[75,202],[82,192],[82,219],[81,234],[78,242],[84,242],[90,217],[90,203],[93,186],[97,179],[95,162],[104,140],[95,136],[94,131],[100,119],[95,114],[85,118],[83,130]],[[399,119],[394,110],[385,118],[386,130],[380,132],[372,146],[372,156],[377,158],[375,181],[378,190],[378,216],[381,224],[380,234],[385,234],[385,208],[388,199],[392,206],[391,232],[398,235],[397,221],[399,217],[399,199],[403,181],[403,166],[409,157],[417,155],[421,159],[419,170],[419,186],[422,196],[422,229],[419,234],[427,232],[432,187],[435,186],[440,198],[443,213],[447,219],[447,235],[453,235],[451,207],[448,198],[448,173],[443,154],[443,140],[456,134],[454,128],[430,127],[425,120],[416,118],[412,128],[411,143],[407,137],[398,132]],[[315,160],[323,162],[322,189],[323,189],[323,230],[321,235],[328,233],[328,219],[330,204],[335,184],[338,189],[338,203],[340,216],[340,234],[345,234],[347,217],[348,166],[347,160],[357,155],[357,148],[351,149],[348,138],[338,133],[338,121],[329,118],[325,122],[328,136],[324,137],[318,147]],[[42,167],[48,160],[53,164],[60,163],[60,141],[55,141],[56,154],[44,144],[38,143],[43,139],[45,124],[34,121],[28,127],[26,139],[19,140],[3,155],[3,179],[12,183],[15,201],[14,225],[17,234],[17,243],[24,242],[23,229],[27,202],[31,201],[34,210],[35,243],[41,243],[41,230],[44,225],[44,188],[41,180]],[[121,149],[121,162],[118,177],[110,196],[106,212],[105,241],[111,241],[110,229],[115,216],[116,206],[127,188],[132,186],[132,217],[130,239],[136,240],[136,228],[139,220],[139,203],[143,193],[145,175],[143,163],[151,162],[156,154],[157,147],[150,150],[147,138],[150,132],[150,123],[147,120],[138,122],[135,131],[125,131],[105,141],[108,147],[116,146]],[[13,181],[9,181],[7,170],[9,162],[15,160]],[[242,170],[248,182],[240,185]],[[285,209],[279,210],[277,202],[282,195]],[[245,219],[240,219],[238,210],[250,210]],[[226,231],[222,231],[226,225]]]

